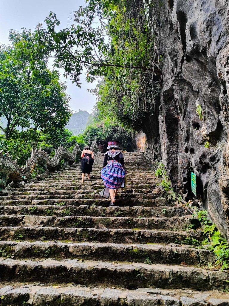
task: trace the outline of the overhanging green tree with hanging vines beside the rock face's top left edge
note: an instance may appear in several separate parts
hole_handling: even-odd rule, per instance
[[[154,113],[160,93],[162,55],[159,54],[159,0],[88,0],[75,12],[75,24],[57,31],[51,12],[36,35],[54,51],[54,64],[80,86],[86,79],[104,81],[98,89],[101,114],[139,129],[145,115]],[[94,21],[99,18],[99,27]],[[108,43],[104,36],[108,37]]]

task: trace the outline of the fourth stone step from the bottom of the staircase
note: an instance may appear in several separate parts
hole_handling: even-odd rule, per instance
[[[202,241],[202,232],[139,230],[139,229],[95,229],[58,227],[0,227],[0,240],[109,242],[109,243],[185,243],[187,238]]]

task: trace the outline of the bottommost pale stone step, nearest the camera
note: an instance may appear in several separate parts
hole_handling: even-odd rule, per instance
[[[229,295],[218,290],[194,291],[191,289],[123,289],[120,286],[85,287],[84,285],[2,283],[2,306],[18,306],[27,302],[33,306],[228,306]],[[48,303],[48,304],[47,304]]]

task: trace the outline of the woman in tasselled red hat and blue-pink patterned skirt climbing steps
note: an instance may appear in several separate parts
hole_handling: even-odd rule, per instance
[[[104,155],[104,167],[101,170],[101,178],[105,187],[109,188],[111,203],[109,206],[115,206],[115,200],[118,197],[118,189],[125,180],[124,158],[119,151],[118,141],[109,141],[107,151]]]

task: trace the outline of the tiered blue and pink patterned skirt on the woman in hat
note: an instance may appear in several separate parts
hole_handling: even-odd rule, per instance
[[[106,187],[118,189],[125,178],[125,170],[120,162],[108,162],[107,166],[101,170],[101,178]]]

